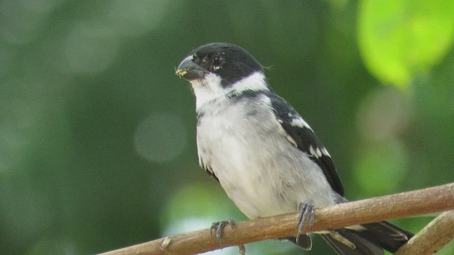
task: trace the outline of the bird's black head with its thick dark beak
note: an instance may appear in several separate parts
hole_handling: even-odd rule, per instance
[[[228,87],[255,72],[263,72],[263,69],[249,52],[237,45],[214,42],[193,50],[179,64],[175,74],[188,81],[216,74],[221,79],[221,85]]]

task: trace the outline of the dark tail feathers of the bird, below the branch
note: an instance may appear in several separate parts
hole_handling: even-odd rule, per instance
[[[321,237],[339,255],[382,255],[383,249],[394,253],[413,234],[389,222],[375,222],[353,229],[337,229]]]

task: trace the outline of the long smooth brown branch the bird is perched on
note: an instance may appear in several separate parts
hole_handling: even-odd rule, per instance
[[[453,209],[454,183],[450,183],[419,191],[409,191],[317,209],[314,227],[311,231],[339,229],[351,225]],[[223,230],[222,247],[293,236],[296,234],[297,222],[297,213],[238,222]],[[199,254],[220,248],[216,237],[210,234],[210,230],[203,229],[175,234],[143,244],[109,251],[102,255]]]

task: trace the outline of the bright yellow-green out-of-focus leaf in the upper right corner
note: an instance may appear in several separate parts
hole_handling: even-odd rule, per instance
[[[358,44],[369,71],[400,89],[439,62],[453,44],[453,0],[363,0]]]

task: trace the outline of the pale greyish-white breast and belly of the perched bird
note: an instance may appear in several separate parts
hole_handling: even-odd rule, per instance
[[[309,198],[317,207],[334,203],[319,166],[285,138],[269,98],[235,103],[224,98],[203,107],[197,125],[199,159],[246,216],[296,212]]]

